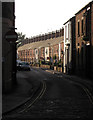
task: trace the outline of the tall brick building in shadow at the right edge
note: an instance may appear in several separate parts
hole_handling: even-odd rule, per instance
[[[76,72],[91,76],[93,72],[93,1],[76,14]]]

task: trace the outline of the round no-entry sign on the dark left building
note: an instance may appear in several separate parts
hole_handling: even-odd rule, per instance
[[[8,42],[16,42],[18,35],[14,30],[10,30],[6,33],[5,38]]]

